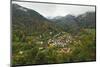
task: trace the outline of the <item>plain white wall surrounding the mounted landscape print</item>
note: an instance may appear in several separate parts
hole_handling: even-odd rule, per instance
[[[100,0],[29,0],[97,6],[97,61],[39,65],[37,67],[98,67],[100,64]],[[0,0],[0,67],[10,67],[10,0]],[[35,66],[34,66],[35,67]]]

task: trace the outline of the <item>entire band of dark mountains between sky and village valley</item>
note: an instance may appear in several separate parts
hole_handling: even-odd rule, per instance
[[[70,29],[69,32],[71,32],[79,30],[79,27],[84,26],[85,24],[87,24],[87,26],[89,27],[95,27],[95,12],[87,12],[85,14],[79,15],[78,17],[69,14],[63,17],[57,16],[52,19],[47,19],[38,12],[32,9],[19,6],[17,4],[13,4],[12,9],[13,24],[15,24],[16,27],[24,26],[23,28],[25,28],[28,31],[30,30],[31,32],[34,30],[42,32],[46,30],[50,31],[50,29],[55,31],[61,31],[61,29],[68,31]],[[89,19],[89,21],[87,18]],[[19,24],[19,26],[17,26],[16,24]]]

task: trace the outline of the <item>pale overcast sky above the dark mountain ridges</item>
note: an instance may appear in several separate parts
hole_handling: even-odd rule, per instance
[[[72,14],[78,16],[87,11],[95,11],[93,6],[79,6],[79,5],[62,5],[62,4],[47,4],[47,3],[33,3],[33,2],[15,2],[23,7],[33,9],[43,15],[44,17],[66,16]]]

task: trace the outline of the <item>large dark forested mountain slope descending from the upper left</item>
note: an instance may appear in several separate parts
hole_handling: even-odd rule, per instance
[[[58,31],[54,23],[38,12],[17,4],[12,4],[12,26],[14,30],[24,30],[27,33]]]

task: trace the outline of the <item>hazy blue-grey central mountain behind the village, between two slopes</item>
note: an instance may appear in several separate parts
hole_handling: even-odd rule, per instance
[[[77,32],[79,30],[77,19],[73,15],[58,16],[53,18],[52,21],[56,22],[57,25],[67,32]]]

